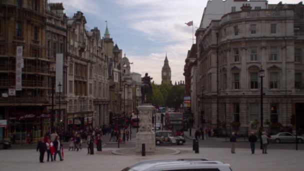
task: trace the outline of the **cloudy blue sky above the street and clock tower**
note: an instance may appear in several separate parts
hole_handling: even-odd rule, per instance
[[[281,0],[268,0],[278,3]],[[300,0],[283,0],[298,3]],[[194,32],[199,26],[207,0],[48,0],[63,2],[64,12],[72,17],[76,11],[83,12],[86,27],[97,26],[102,33],[107,20],[110,37],[131,64],[131,71],[141,76],[145,72],[161,83],[161,68],[165,54],[171,68],[171,80],[184,80],[183,66],[192,44],[192,26],[185,22],[193,20]],[[195,38],[195,37],[194,37]],[[195,42],[195,41],[194,41]]]

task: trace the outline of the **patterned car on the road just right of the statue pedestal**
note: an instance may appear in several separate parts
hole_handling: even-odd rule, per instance
[[[176,136],[170,130],[160,130],[155,132],[155,143],[160,144],[177,144],[182,145],[186,140],[182,136]]]

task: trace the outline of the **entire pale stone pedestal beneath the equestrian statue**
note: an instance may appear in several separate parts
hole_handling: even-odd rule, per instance
[[[141,144],[145,144],[145,152],[155,151],[155,132],[152,131],[152,110],[151,104],[137,106],[139,111],[139,129],[136,133],[136,152],[141,152]]]

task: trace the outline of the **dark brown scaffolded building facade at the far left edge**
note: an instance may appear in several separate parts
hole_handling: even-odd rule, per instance
[[[28,133],[36,140],[47,125],[51,59],[45,50],[46,7],[46,0],[0,1],[0,119],[7,120],[0,139],[16,132],[17,142],[25,143]],[[22,47],[21,63],[16,63],[17,46]],[[21,67],[17,80],[16,66]]]

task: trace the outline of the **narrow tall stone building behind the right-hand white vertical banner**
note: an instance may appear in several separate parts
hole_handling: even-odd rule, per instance
[[[66,113],[66,77],[67,77],[67,60],[66,60],[66,16],[63,13],[62,3],[48,3],[46,9],[46,56],[50,59],[50,68],[56,65],[56,53],[63,54],[63,77],[60,84],[60,112],[59,112],[59,92],[55,92],[54,109],[55,109],[55,122],[67,128]],[[58,84],[55,86],[58,86]],[[49,101],[51,101],[51,95],[49,95]],[[48,106],[48,111],[51,110],[51,106]]]

